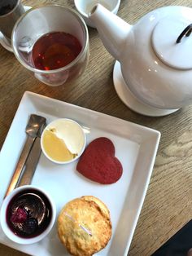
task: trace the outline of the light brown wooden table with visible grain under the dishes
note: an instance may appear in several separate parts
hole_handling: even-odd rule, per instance
[[[46,2],[74,7],[72,0],[24,1],[30,6]],[[134,24],[148,11],[168,5],[192,7],[192,0],[121,0],[118,15]],[[129,249],[131,256],[150,255],[192,217],[192,106],[167,117],[133,113],[116,95],[112,81],[115,60],[105,50],[95,29],[89,29],[89,42],[90,60],[86,72],[78,83],[59,87],[38,82],[13,54],[0,46],[0,147],[26,90],[159,130],[162,137],[151,183]],[[25,254],[0,245],[0,255]]]

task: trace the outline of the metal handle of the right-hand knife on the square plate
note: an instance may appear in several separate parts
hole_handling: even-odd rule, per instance
[[[31,183],[40,155],[41,155],[41,143],[40,143],[40,138],[37,137],[33,143],[33,148],[31,149],[28,155],[28,159],[25,163],[25,169],[21,174],[20,181],[17,187],[28,185]]]

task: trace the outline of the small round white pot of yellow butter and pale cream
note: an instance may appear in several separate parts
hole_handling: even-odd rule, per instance
[[[41,149],[51,161],[71,162],[80,157],[85,149],[85,133],[76,121],[57,119],[43,131]]]

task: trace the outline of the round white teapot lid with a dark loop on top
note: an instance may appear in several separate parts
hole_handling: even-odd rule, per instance
[[[155,25],[152,46],[164,64],[177,69],[192,68],[192,24],[190,22],[171,16],[159,20]]]

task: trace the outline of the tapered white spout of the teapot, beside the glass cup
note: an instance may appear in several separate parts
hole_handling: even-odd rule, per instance
[[[117,15],[108,11],[107,8],[101,4],[94,6],[89,13],[89,20],[91,20],[96,29],[103,45],[107,51],[116,59],[121,59],[124,52],[124,42],[127,38],[132,25],[120,19]]]

